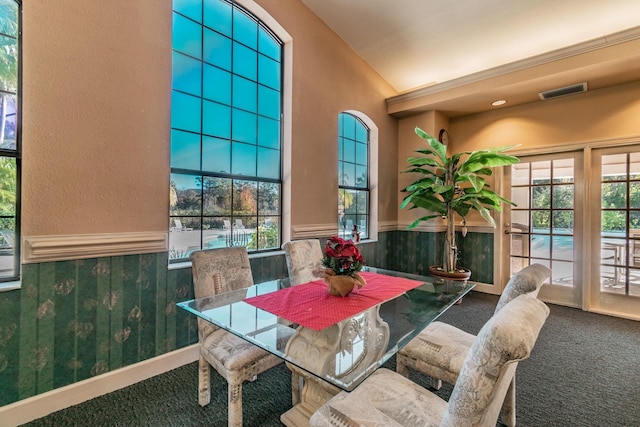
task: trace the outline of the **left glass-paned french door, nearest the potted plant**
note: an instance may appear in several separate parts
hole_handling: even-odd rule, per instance
[[[505,171],[505,194],[517,206],[503,215],[502,283],[538,263],[551,269],[539,297],[579,307],[582,299],[584,183],[582,152],[519,156]]]

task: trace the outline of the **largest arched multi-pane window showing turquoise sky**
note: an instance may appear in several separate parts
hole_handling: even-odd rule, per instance
[[[174,0],[170,260],[280,247],[282,42],[226,0]]]

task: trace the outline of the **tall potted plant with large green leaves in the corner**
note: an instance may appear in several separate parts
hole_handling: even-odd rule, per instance
[[[511,165],[520,160],[504,154],[513,146],[447,155],[446,145],[418,127],[415,132],[427,142],[428,148],[416,150],[420,156],[407,159],[409,166],[405,173],[417,173],[420,176],[402,190],[407,195],[400,208],[423,208],[429,213],[413,221],[407,229],[432,218],[446,219],[442,264],[430,267],[429,272],[436,276],[469,278],[471,271],[457,265],[455,216],[462,217],[463,236],[467,232],[467,215],[472,210],[495,227],[491,211],[502,212],[504,203],[515,204],[492,191],[485,177],[492,175],[494,167]]]

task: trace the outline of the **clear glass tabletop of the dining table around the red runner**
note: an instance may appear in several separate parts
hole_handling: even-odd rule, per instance
[[[289,288],[288,279],[258,283],[181,302],[178,306],[281,357],[290,369],[293,365],[341,390],[351,391],[475,286],[470,281],[372,267],[365,267],[365,271],[375,274],[377,280],[405,278],[420,283],[320,330],[301,326],[245,301]]]

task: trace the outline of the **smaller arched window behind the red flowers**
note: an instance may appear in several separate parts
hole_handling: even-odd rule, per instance
[[[369,128],[358,117],[338,117],[338,230],[369,238]]]

